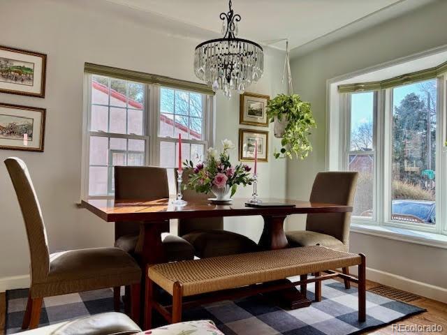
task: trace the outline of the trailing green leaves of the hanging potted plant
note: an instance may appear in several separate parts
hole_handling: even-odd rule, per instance
[[[309,151],[312,151],[310,131],[316,128],[310,103],[302,101],[298,94],[278,94],[267,104],[267,117],[270,122],[274,121],[274,117],[279,121],[288,121],[281,139],[281,149],[274,150],[274,158],[296,156],[304,159],[309,155]]]

